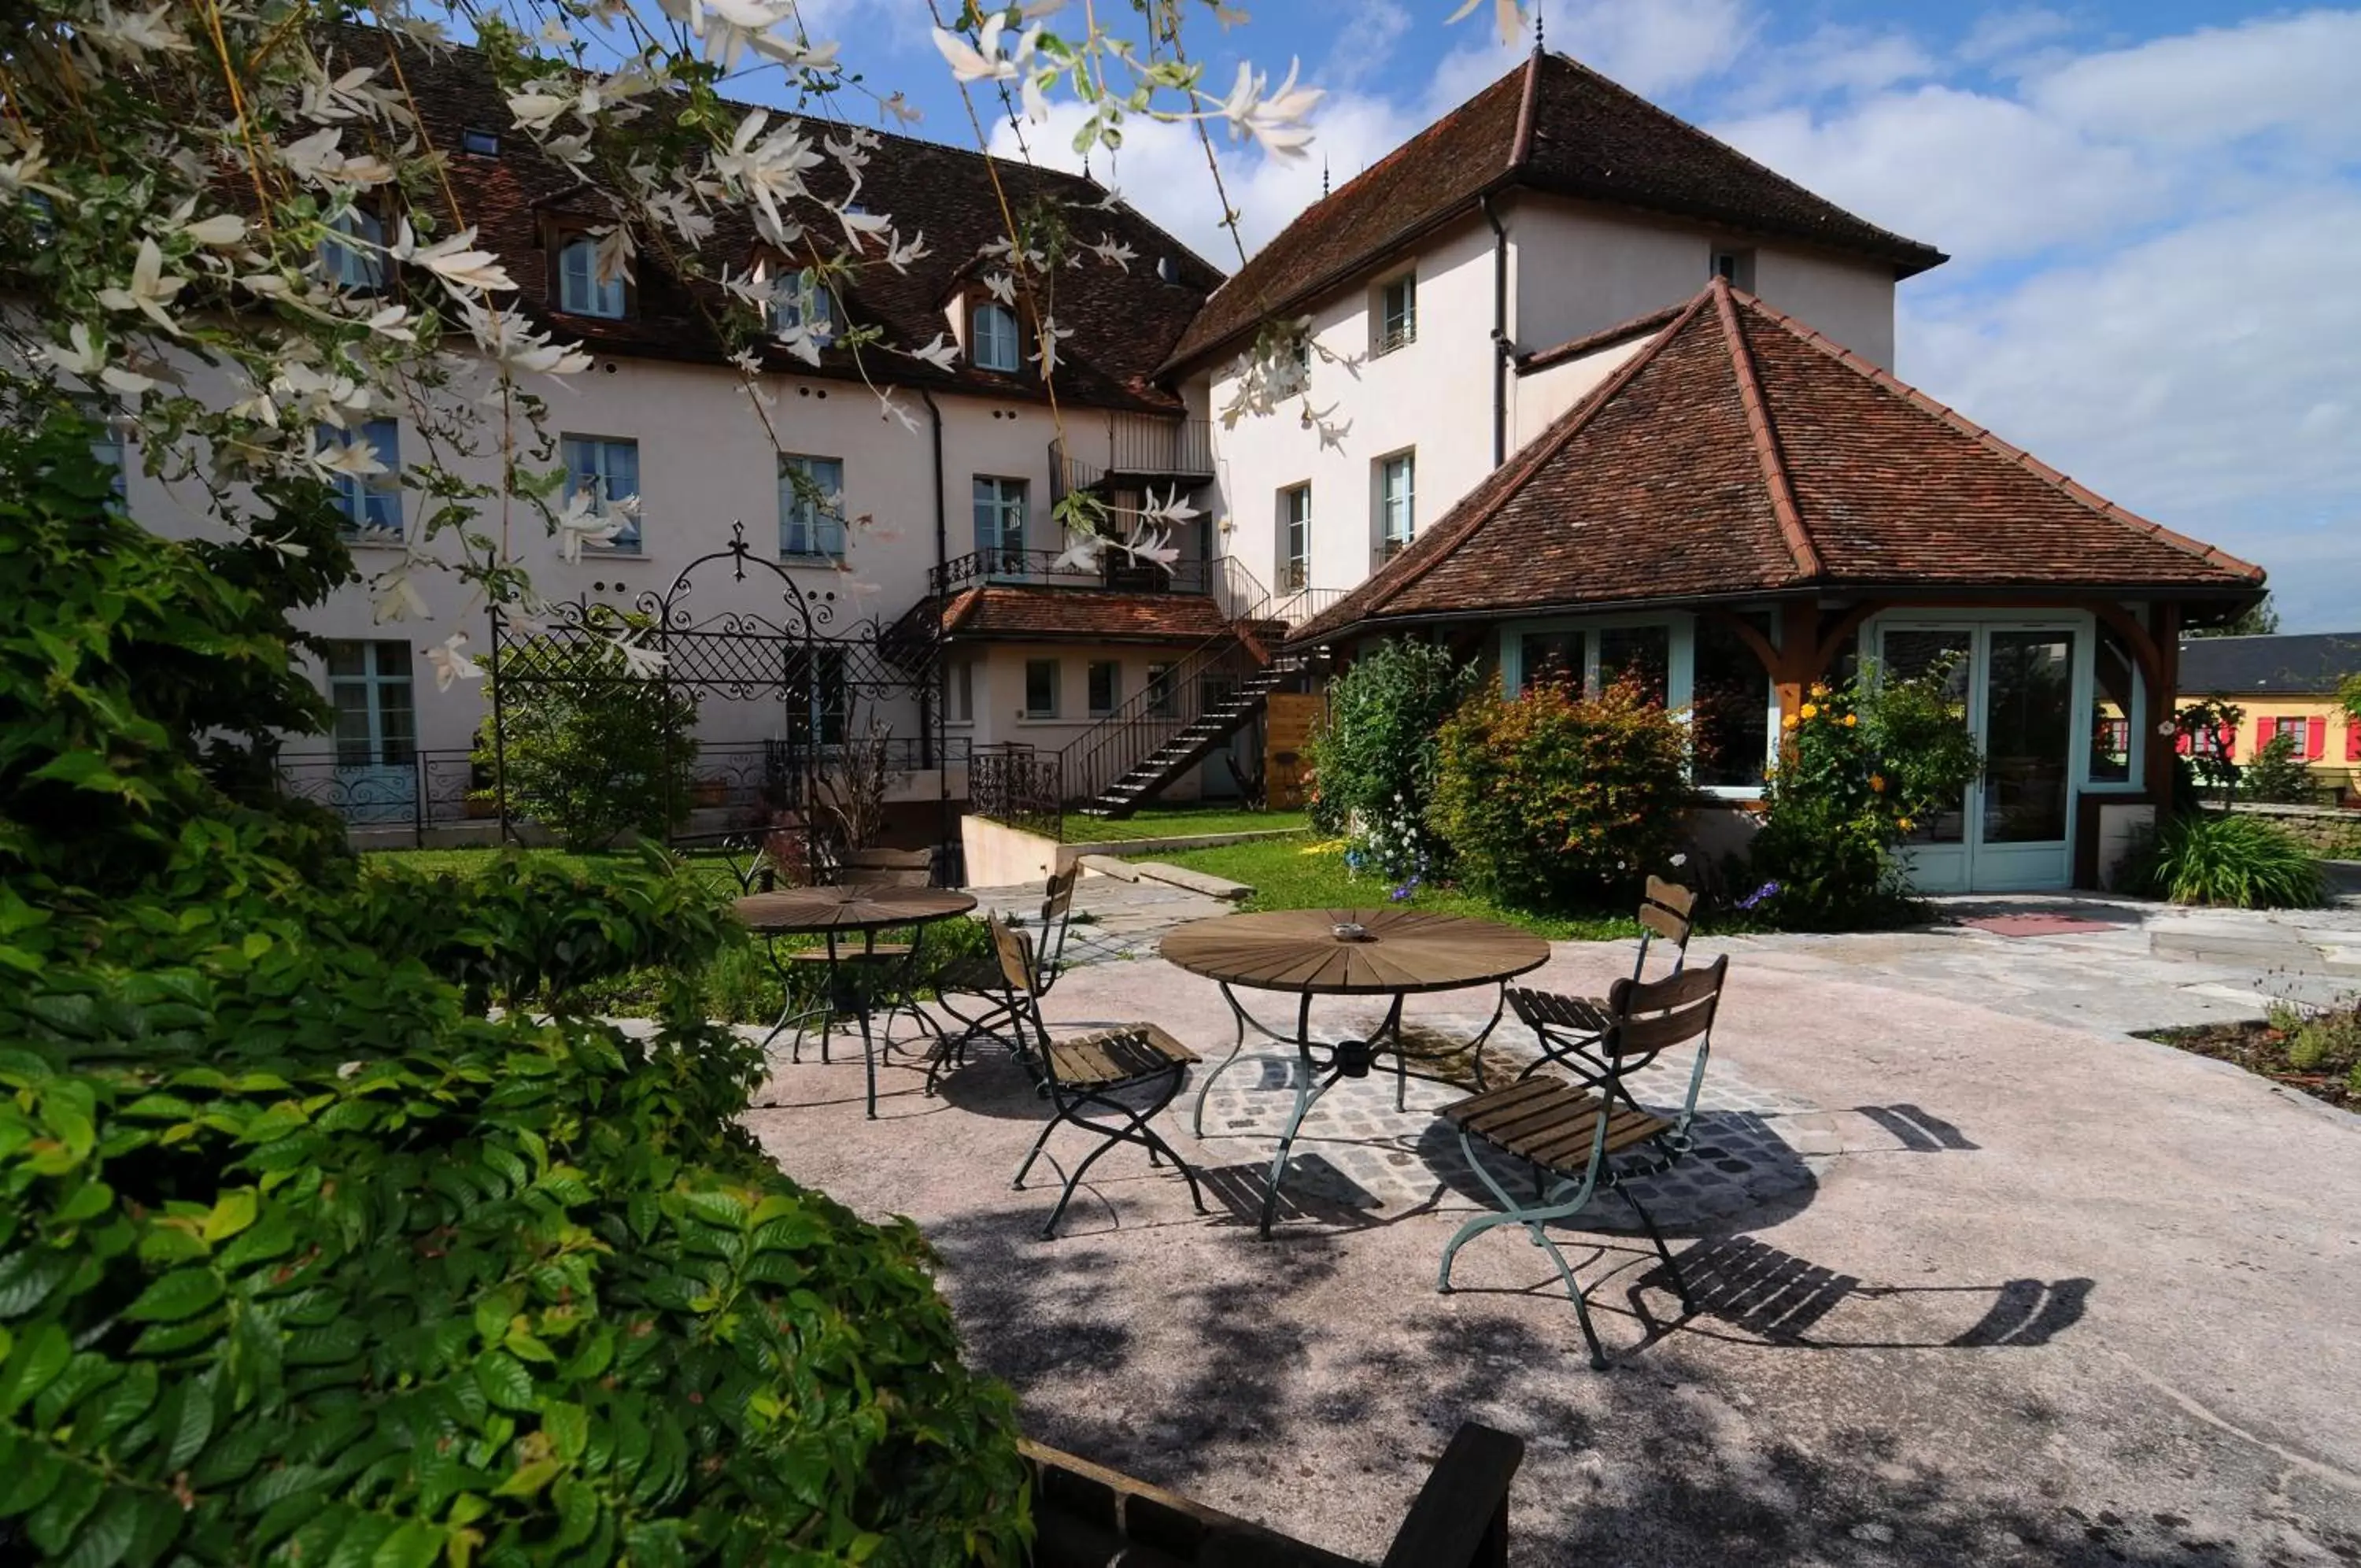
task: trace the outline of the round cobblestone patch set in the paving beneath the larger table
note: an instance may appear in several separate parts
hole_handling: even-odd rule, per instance
[[[1466,1041],[1478,1027],[1483,1015],[1431,1018],[1407,1030],[1419,1056],[1414,1065],[1466,1077]],[[1485,1074],[1495,1084],[1530,1060],[1520,1041],[1504,1039],[1509,1032],[1495,1034],[1485,1048]],[[1216,1065],[1218,1058],[1209,1053],[1176,1110],[1195,1112],[1197,1089]],[[1204,1105],[1209,1159],[1237,1167],[1261,1162],[1268,1169],[1294,1112],[1301,1070],[1291,1051],[1258,1060],[1249,1053],[1214,1079]],[[1688,1070],[1690,1058],[1683,1056],[1655,1063],[1627,1082],[1641,1105],[1672,1115],[1688,1093]],[[1438,1115],[1464,1093],[1459,1084],[1410,1079],[1402,1110],[1395,1110],[1391,1058],[1381,1058],[1369,1077],[1341,1079],[1303,1117],[1287,1169],[1287,1193],[1355,1209],[1369,1219],[1431,1204],[1440,1193],[1497,1207],[1492,1193],[1469,1169],[1459,1133]],[[1818,1105],[1750,1082],[1726,1058],[1712,1060],[1705,1070],[1693,1138],[1686,1162],[1631,1183],[1655,1221],[1676,1230],[1728,1221],[1773,1202],[1794,1202],[1818,1183],[1842,1148],[1834,1124]],[[1520,1193],[1532,1181],[1525,1167],[1492,1150],[1483,1155],[1511,1190]],[[1620,1195],[1608,1195],[1582,1214],[1580,1226],[1639,1230],[1639,1216]]]

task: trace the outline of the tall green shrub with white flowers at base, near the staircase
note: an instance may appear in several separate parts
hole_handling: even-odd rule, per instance
[[[1435,869],[1426,829],[1435,734],[1476,680],[1450,649],[1393,638],[1329,682],[1327,720],[1308,746],[1306,805],[1320,831],[1353,836],[1355,871],[1419,878]]]

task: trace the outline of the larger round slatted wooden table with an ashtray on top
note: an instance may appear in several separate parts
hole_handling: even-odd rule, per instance
[[[1221,985],[1237,1023],[1237,1044],[1197,1089],[1197,1136],[1204,1136],[1204,1100],[1214,1079],[1247,1056],[1247,1030],[1296,1053],[1296,1110],[1270,1162],[1270,1190],[1263,1195],[1261,1235],[1270,1237],[1270,1216],[1280,1207],[1280,1178],[1287,1155],[1303,1126],[1303,1115],[1336,1079],[1367,1077],[1384,1053],[1393,1056],[1395,1110],[1410,1089],[1410,1058],[1402,1051],[1402,999],[1428,992],[1457,992],[1476,985],[1497,987],[1492,1018],[1476,1034],[1478,1046],[1499,1025],[1509,980],[1549,961],[1549,942],[1502,926],[1457,914],[1419,909],[1273,909],[1268,914],[1228,914],[1214,921],[1178,926],[1162,942],[1166,961]],[[1282,1034],[1240,1004],[1240,989],[1291,992],[1296,1001],[1294,1034]],[[1313,997],[1391,997],[1384,1023],[1367,1039],[1315,1041],[1310,1037]],[[1320,1060],[1317,1053],[1327,1053]],[[1256,1051],[1256,1058],[1277,1056]],[[1325,1077],[1322,1077],[1325,1074]],[[1428,1074],[1417,1074],[1428,1077]]]

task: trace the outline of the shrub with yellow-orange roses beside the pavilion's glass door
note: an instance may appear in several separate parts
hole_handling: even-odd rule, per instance
[[[1865,668],[1844,685],[1813,685],[1780,720],[1780,758],[1750,845],[1759,886],[1740,907],[1832,930],[1908,914],[1903,843],[1922,822],[1960,810],[1983,767],[1943,678]]]

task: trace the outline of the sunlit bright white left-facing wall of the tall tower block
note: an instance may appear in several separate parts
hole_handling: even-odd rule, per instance
[[[1372,269],[1308,312],[1329,354],[1362,359],[1313,361],[1310,399],[1348,427],[1341,446],[1322,449],[1294,409],[1214,430],[1225,553],[1263,583],[1275,586],[1282,564],[1282,489],[1313,486],[1310,586],[1350,588],[1376,564],[1381,458],[1417,453],[1417,529],[1492,468],[1492,231],[1471,220],[1421,248],[1417,342],[1369,359],[1376,288],[1398,272]],[[1206,380],[1211,406],[1225,406],[1228,375],[1199,375],[1190,394]]]

